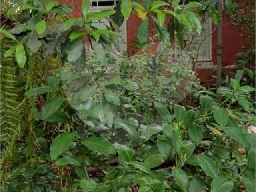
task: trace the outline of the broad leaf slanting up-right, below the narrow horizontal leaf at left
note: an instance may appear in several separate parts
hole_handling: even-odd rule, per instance
[[[42,108],[43,119],[50,117],[52,114],[58,111],[63,102],[64,100],[61,96],[50,98]]]

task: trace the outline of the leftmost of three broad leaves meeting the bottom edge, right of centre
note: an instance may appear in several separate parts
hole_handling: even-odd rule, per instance
[[[182,189],[182,192],[188,192],[189,178],[188,174],[181,168],[172,168],[172,174],[177,185]]]

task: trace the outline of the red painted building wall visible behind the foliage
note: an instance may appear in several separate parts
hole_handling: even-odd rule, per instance
[[[82,0],[59,0],[60,3],[65,3],[73,8],[74,16],[80,16],[81,14],[81,2]],[[136,42],[136,34],[140,23],[142,20],[138,18],[135,14],[131,14],[130,18],[126,22],[126,49],[128,54],[138,54],[138,49],[135,46]],[[223,13],[223,20],[222,20],[222,66],[228,68],[228,66],[235,64],[236,56],[239,52],[242,51],[243,46],[245,44],[244,39],[239,34],[239,28],[241,26],[236,26],[232,24],[232,20]],[[215,26],[212,24],[212,29]],[[245,33],[245,32],[243,32]],[[204,65],[198,71],[199,78],[203,82],[210,82],[212,79],[212,75],[216,72],[214,70],[214,66],[216,66],[217,61],[217,32],[213,32],[211,38],[211,43],[209,44],[211,49],[211,59],[210,62],[212,67],[209,68],[207,66],[204,68]],[[209,62],[208,62],[209,63]]]

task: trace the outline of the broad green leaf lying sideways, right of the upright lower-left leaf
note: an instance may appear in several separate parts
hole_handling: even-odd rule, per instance
[[[115,154],[113,145],[102,137],[89,137],[82,140],[81,143],[93,151],[106,154]]]

